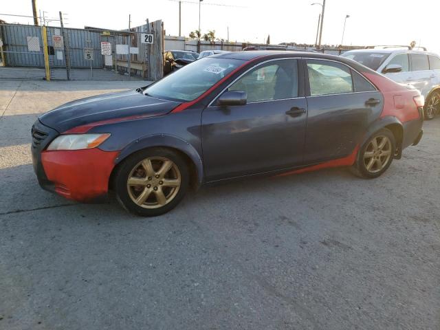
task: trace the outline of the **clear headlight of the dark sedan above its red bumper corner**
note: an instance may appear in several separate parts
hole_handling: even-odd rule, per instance
[[[109,138],[110,133],[98,134],[66,134],[56,137],[47,150],[79,150],[99,146]]]

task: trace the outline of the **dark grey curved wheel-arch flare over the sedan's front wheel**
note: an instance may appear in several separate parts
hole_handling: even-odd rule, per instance
[[[140,151],[145,148],[151,148],[154,146],[162,146],[168,148],[174,148],[187,155],[197,170],[197,181],[200,185],[203,182],[203,162],[197,150],[190,143],[181,139],[180,137],[167,134],[155,134],[147,135],[134,142],[131,142],[128,146],[120,151],[118,157],[115,158],[115,165],[119,164],[126,157]]]

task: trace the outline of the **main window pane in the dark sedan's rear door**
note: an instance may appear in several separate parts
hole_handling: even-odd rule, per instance
[[[351,70],[345,65],[329,61],[307,61],[310,95],[353,92]]]

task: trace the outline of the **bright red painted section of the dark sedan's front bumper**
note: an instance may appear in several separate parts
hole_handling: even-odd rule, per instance
[[[41,162],[55,191],[75,201],[91,201],[109,190],[109,177],[118,151],[99,148],[73,151],[43,151]]]

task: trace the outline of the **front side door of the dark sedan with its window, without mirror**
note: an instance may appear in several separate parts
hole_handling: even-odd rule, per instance
[[[298,61],[257,65],[227,90],[245,91],[248,103],[202,114],[203,163],[208,181],[299,166],[307,118]]]

